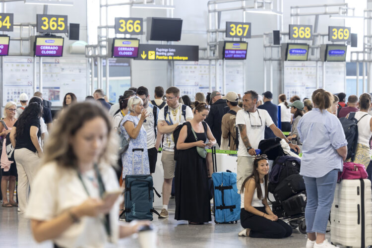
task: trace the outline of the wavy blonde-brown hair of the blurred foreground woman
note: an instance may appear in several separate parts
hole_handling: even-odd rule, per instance
[[[53,125],[52,133],[44,148],[42,164],[56,162],[60,168],[76,169],[77,158],[70,144],[70,138],[88,121],[102,118],[107,125],[107,144],[98,159],[100,169],[116,165],[118,137],[113,130],[112,120],[95,101],[75,103],[65,109]]]

